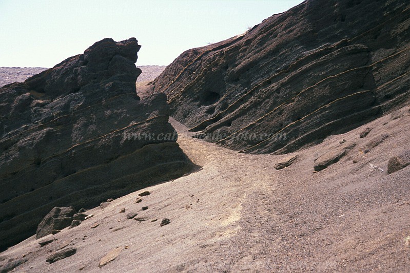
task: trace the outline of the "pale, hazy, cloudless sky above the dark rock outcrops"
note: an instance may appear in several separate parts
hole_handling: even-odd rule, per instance
[[[236,36],[302,0],[0,0],[0,67],[46,67],[106,37],[135,37],[136,66]]]

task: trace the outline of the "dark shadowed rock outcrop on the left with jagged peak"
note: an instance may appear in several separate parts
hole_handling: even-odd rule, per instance
[[[164,94],[136,95],[135,38],[106,38],[0,89],[0,249],[55,206],[93,207],[191,169]],[[127,134],[150,133],[140,140]],[[133,136],[133,135],[132,135]]]

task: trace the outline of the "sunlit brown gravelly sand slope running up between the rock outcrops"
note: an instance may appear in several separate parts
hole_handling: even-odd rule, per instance
[[[410,167],[388,175],[387,161],[408,146],[408,107],[343,135],[300,151],[288,168],[274,169],[283,156],[248,155],[189,136],[181,124],[179,143],[202,168],[174,181],[91,209],[80,226],[54,235],[40,247],[34,237],[0,254],[28,261],[17,272],[272,272],[410,270]],[[359,138],[365,127],[373,128]],[[381,133],[389,136],[363,153]],[[314,173],[317,151],[337,149],[339,141],[357,145],[339,162]],[[353,160],[359,161],[354,164]],[[368,163],[385,172],[370,170]],[[104,200],[102,200],[104,201]],[[141,211],[142,206],[148,206]],[[120,214],[121,208],[126,213]],[[126,214],[150,220],[127,220]],[[162,218],[171,220],[160,227]],[[151,219],[158,219],[151,222]],[[96,228],[91,228],[99,223]],[[63,242],[77,253],[53,264],[50,251]],[[100,241],[101,240],[101,241]],[[63,244],[64,245],[64,244]],[[127,246],[111,263],[99,261],[116,246]],[[1,269],[1,267],[0,267]]]

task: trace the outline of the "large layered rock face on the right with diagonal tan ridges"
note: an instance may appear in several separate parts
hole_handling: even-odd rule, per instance
[[[408,102],[409,7],[306,1],[243,35],[184,52],[151,92],[165,92],[172,116],[191,131],[219,131],[213,142],[293,152]]]

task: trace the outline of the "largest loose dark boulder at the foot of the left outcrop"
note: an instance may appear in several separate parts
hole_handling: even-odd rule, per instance
[[[73,215],[75,214],[74,207],[54,207],[38,224],[36,239],[40,239],[46,235],[52,234],[53,230],[62,230],[71,225]]]

